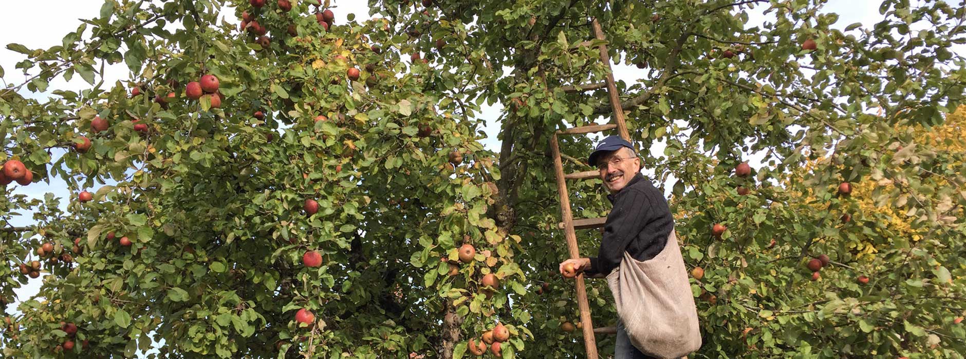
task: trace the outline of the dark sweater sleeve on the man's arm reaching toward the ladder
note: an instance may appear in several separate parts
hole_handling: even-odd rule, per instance
[[[610,274],[620,265],[628,245],[647,224],[652,205],[648,196],[637,190],[616,198],[604,225],[601,248],[597,257],[590,258],[590,268],[584,270],[587,274]]]

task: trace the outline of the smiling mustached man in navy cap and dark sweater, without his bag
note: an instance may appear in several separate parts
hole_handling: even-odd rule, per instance
[[[604,224],[597,257],[561,262],[560,273],[564,264],[573,263],[577,271],[606,276],[620,265],[624,252],[641,262],[653,259],[668,243],[674,220],[664,194],[640,174],[640,158],[631,143],[619,136],[605,138],[590,153],[588,163],[597,166],[611,192],[607,198],[613,208]],[[620,320],[614,351],[614,359],[649,358],[631,345]]]

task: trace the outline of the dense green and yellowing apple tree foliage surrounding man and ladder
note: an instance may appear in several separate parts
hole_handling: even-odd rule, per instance
[[[62,45],[8,45],[37,75],[0,90],[0,160],[78,197],[0,191],[0,220],[36,219],[0,229],[0,294],[29,261],[48,273],[5,356],[459,358],[502,323],[505,357],[582,357],[548,141],[609,121],[605,91],[563,90],[608,71],[592,17],[639,68],[618,84],[631,136],[663,149],[644,167],[704,270],[696,357],[966,352],[966,162],[954,136],[923,139],[963,95],[962,7],[885,0],[881,22],[837,30],[808,0],[329,5],[106,0]],[[103,64],[130,80],[103,83]],[[75,75],[90,89],[48,88]],[[497,102],[493,152],[479,114]],[[568,171],[590,169],[589,137],[561,142]],[[571,189],[578,217],[607,213],[599,180]],[[606,285],[589,291],[611,323]]]

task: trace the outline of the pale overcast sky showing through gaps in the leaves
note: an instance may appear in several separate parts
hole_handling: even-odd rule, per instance
[[[3,10],[0,11],[0,67],[6,71],[3,77],[5,84],[19,84],[24,76],[21,71],[14,69],[16,62],[24,59],[22,54],[6,49],[6,44],[16,42],[29,48],[46,48],[61,43],[64,35],[74,31],[80,24],[80,18],[93,18],[98,16],[102,0],[35,0],[35,1],[3,1]],[[353,13],[356,18],[368,16],[368,7],[365,1],[332,1],[335,5],[337,14],[336,22],[345,20],[345,14]],[[840,15],[836,27],[844,28],[854,22],[862,22],[867,26],[879,21],[882,15],[878,13],[879,2],[870,0],[832,0],[826,6],[827,12],[838,13]],[[759,23],[763,17],[753,17],[752,23]],[[615,66],[615,77],[627,82],[637,81],[641,70],[627,67]],[[118,65],[105,71],[105,82],[111,83],[116,80],[128,79],[128,70],[124,65]],[[81,80],[79,76],[74,76],[70,83],[65,83],[62,79],[51,83],[51,89],[79,90],[89,85]],[[29,95],[24,93],[24,95]],[[43,95],[29,95],[32,97],[43,97]],[[500,105],[484,109],[481,117],[493,124],[497,119]],[[497,126],[490,125],[486,128],[490,139],[485,141],[486,146],[494,151],[498,149],[496,140]],[[663,151],[660,147],[652,148],[652,151]],[[55,153],[55,155],[57,155]],[[96,188],[94,188],[96,189]],[[67,185],[64,181],[53,180],[50,184],[46,182],[36,182],[27,187],[16,186],[14,193],[26,194],[35,198],[42,198],[44,193],[51,192],[57,197],[69,198]],[[13,225],[31,225],[29,215],[16,218]],[[17,290],[20,299],[29,298],[38,292],[40,280],[31,280],[30,284]],[[14,308],[14,306],[9,306]],[[8,310],[14,313],[13,310]]]

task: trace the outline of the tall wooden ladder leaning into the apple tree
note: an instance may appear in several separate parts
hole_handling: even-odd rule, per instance
[[[601,30],[600,23],[594,18],[591,21],[593,25],[594,37],[597,40],[604,41],[604,32]],[[608,96],[611,99],[611,108],[613,110],[613,123],[612,124],[593,124],[585,125],[574,128],[562,129],[554,132],[553,138],[551,138],[550,146],[551,151],[554,152],[554,172],[556,173],[556,188],[558,195],[560,197],[560,217],[563,220],[559,223],[559,228],[563,230],[564,237],[567,239],[567,250],[570,252],[571,259],[581,258],[580,249],[577,247],[577,234],[576,230],[591,229],[591,228],[601,228],[604,227],[604,222],[607,217],[600,218],[586,218],[586,219],[574,219],[573,213],[570,210],[570,195],[567,191],[567,180],[586,180],[595,179],[598,177],[597,171],[582,171],[573,174],[563,173],[563,160],[560,157],[560,145],[557,141],[558,135],[572,135],[572,134],[584,134],[592,132],[602,132],[608,131],[616,128],[620,137],[630,141],[630,135],[627,132],[627,124],[624,121],[624,109],[620,106],[620,97],[617,96],[617,86],[613,82],[613,69],[611,69],[611,56],[607,53],[607,46],[601,44],[598,46],[601,52],[601,61],[607,65],[608,73],[607,80],[605,84],[607,86]],[[579,86],[570,86],[565,89],[567,92],[582,92],[589,90],[600,89],[604,86],[602,84],[588,84]],[[590,163],[593,166],[593,163]],[[606,328],[594,328],[593,322],[590,319],[590,306],[587,304],[587,291],[583,284],[583,273],[578,274],[575,278],[577,284],[577,303],[581,309],[581,323],[583,331],[583,345],[587,352],[587,359],[597,359],[597,341],[594,339],[594,333],[599,334],[614,334],[616,329],[614,327]]]

